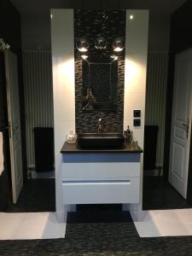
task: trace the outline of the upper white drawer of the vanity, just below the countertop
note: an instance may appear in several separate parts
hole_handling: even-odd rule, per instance
[[[140,177],[140,163],[62,163],[61,177],[72,180]]]

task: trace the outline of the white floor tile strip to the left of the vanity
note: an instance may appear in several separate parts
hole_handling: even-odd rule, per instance
[[[55,212],[0,212],[0,240],[64,238],[65,232]]]

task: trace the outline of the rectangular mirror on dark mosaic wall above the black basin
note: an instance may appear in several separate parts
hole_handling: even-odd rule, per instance
[[[118,62],[110,59],[82,61],[83,110],[116,110]]]

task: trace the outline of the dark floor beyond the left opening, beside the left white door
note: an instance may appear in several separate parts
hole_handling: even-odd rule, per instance
[[[55,212],[55,179],[28,179],[17,204],[6,212]]]

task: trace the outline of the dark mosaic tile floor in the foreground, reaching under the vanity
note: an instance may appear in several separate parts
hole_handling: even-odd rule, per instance
[[[0,255],[188,256],[192,236],[140,238],[129,212],[71,212],[65,239],[0,241]]]

